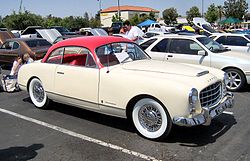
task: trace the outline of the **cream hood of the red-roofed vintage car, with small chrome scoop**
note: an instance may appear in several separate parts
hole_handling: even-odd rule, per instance
[[[208,70],[202,69],[202,67],[198,68],[198,67],[188,66],[185,64],[170,63],[157,60],[140,60],[140,61],[128,62],[123,64],[123,69],[176,74],[189,77],[199,77],[209,73]]]

